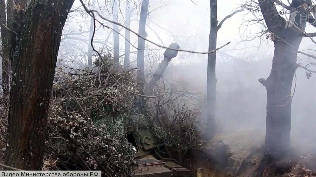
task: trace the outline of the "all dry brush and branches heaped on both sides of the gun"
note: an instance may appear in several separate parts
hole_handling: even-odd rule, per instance
[[[118,82],[98,63],[92,70],[57,69],[43,169],[101,170],[106,176],[130,176],[136,164],[135,152],[125,138],[128,126],[150,128],[157,142],[167,145],[167,156],[159,155],[166,154],[162,152],[165,150],[156,151],[161,159],[173,158],[182,163],[185,154],[201,143],[195,126],[199,110],[180,104],[181,94],[169,92],[156,98],[140,98],[137,94],[142,91],[135,69],[117,68],[111,72]],[[158,87],[153,94],[164,92]],[[3,155],[8,99],[1,99]],[[143,102],[146,106],[140,106]],[[139,111],[139,107],[146,111]]]

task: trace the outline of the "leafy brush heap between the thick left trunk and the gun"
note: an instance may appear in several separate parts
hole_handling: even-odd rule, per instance
[[[125,126],[136,96],[122,90],[102,66],[92,71],[68,70],[59,68],[55,74],[43,169],[131,175],[135,152],[125,138]],[[137,92],[132,72],[112,72],[120,84]],[[4,100],[0,107],[1,155],[5,152],[8,115]]]

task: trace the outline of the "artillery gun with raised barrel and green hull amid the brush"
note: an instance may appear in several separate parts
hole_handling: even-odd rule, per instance
[[[152,79],[146,87],[145,94],[150,95],[156,83],[162,77],[171,59],[177,56],[180,49],[177,43],[172,43],[164,53],[164,60],[161,61]],[[153,154],[154,149],[161,147],[156,144],[150,129],[128,128],[126,134],[128,142],[133,145],[136,151],[137,168],[134,177],[189,177],[191,171],[172,161],[157,160]],[[164,146],[164,145],[162,145]]]

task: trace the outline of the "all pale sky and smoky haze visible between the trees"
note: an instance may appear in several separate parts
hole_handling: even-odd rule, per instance
[[[244,4],[246,0],[220,0],[218,1],[218,20],[221,21]],[[286,0],[283,1],[287,3]],[[77,2],[78,3],[78,2]],[[110,3],[98,3],[100,7],[110,8]],[[131,30],[138,31],[139,4],[133,5],[131,17]],[[77,5],[79,5],[78,3]],[[180,49],[196,52],[206,52],[209,46],[210,32],[210,1],[207,0],[151,0],[149,3],[149,16],[147,19],[146,32],[147,39],[164,46],[176,42]],[[125,2],[119,5],[119,22],[124,24]],[[278,9],[282,10],[282,9]],[[111,14],[102,11],[102,14],[110,19]],[[216,123],[218,124],[218,134],[222,132],[257,131],[264,136],[266,119],[266,89],[258,82],[259,78],[267,78],[271,71],[274,44],[266,35],[261,35],[264,30],[262,24],[249,22],[255,17],[262,17],[260,12],[250,13],[247,9],[235,14],[224,22],[217,35],[217,46],[220,47],[227,42],[229,45],[217,52],[216,59]],[[284,16],[284,15],[283,15]],[[87,31],[89,28],[89,17],[85,14],[82,20],[73,21],[67,19],[67,29]],[[112,24],[105,22],[112,26]],[[82,27],[79,27],[82,26]],[[108,38],[109,45],[96,46],[111,50],[113,41],[110,34],[111,29],[97,26],[95,41]],[[307,24],[306,32],[313,32],[314,27]],[[120,31],[124,35],[124,30]],[[88,38],[84,36],[85,39]],[[124,54],[124,37],[120,36],[120,54]],[[131,34],[131,44],[137,44],[137,36]],[[80,49],[87,50],[88,45],[76,43]],[[67,53],[72,45],[61,43],[60,53]],[[146,42],[145,48],[145,68],[146,72],[153,72],[157,68],[157,63],[163,59],[165,49],[157,47],[155,44]],[[308,38],[303,38],[300,50],[313,54],[315,44]],[[72,51],[78,49],[72,48]],[[132,51],[137,49],[131,47]],[[80,53],[80,51],[78,52]],[[136,60],[137,54],[131,54],[131,61]],[[298,55],[298,63],[306,65],[314,62],[307,56]],[[120,58],[121,62],[124,56]],[[80,66],[84,66],[87,61],[82,60]],[[153,63],[155,64],[154,66]],[[74,65],[66,63],[65,65]],[[131,66],[136,66],[132,62]],[[314,66],[310,69],[314,70]],[[152,69],[151,69],[152,68]],[[185,85],[185,89],[191,93],[199,95],[206,94],[207,75],[207,54],[192,54],[179,52],[174,58],[164,74],[164,77],[174,81],[172,87],[179,88]],[[180,83],[178,86],[176,83]],[[314,142],[316,140],[316,75],[307,79],[306,71],[302,68],[296,70],[293,80],[292,94],[292,145],[302,152],[316,152]],[[203,100],[198,101],[201,106]],[[205,109],[205,108],[204,108]],[[205,111],[205,110],[204,110]],[[201,119],[203,119],[203,114]],[[252,134],[247,134],[252,136]],[[247,137],[246,136],[246,137]],[[246,140],[247,141],[247,140]],[[249,139],[250,141],[250,139]],[[262,139],[262,145],[264,139]],[[300,145],[300,146],[298,146]]]

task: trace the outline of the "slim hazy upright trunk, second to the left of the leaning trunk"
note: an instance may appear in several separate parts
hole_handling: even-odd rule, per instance
[[[118,22],[118,6],[119,1],[114,0],[113,2],[113,21]],[[116,31],[116,32],[115,32]],[[119,65],[119,26],[113,23],[113,57],[114,67]]]

